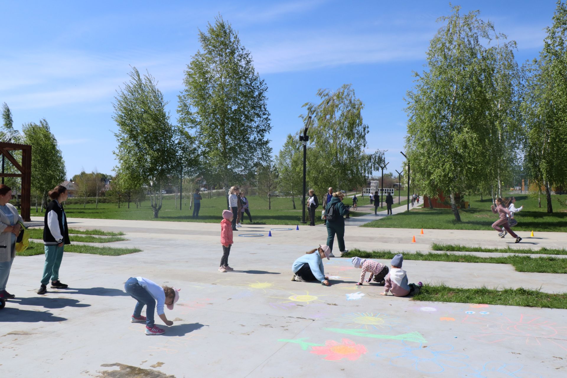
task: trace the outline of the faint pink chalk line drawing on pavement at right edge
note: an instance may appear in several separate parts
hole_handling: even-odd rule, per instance
[[[544,341],[567,351],[567,340],[561,339],[567,337],[567,326],[558,326],[557,322],[541,316],[522,314],[519,318],[509,318],[468,315],[463,323],[479,325],[482,333],[472,338],[488,344],[517,341],[539,346]]]

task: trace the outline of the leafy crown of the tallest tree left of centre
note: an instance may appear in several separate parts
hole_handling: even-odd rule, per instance
[[[199,42],[201,49],[185,71],[177,113],[196,139],[204,176],[228,189],[251,177],[270,154],[268,88],[238,33],[222,17],[199,31]]]

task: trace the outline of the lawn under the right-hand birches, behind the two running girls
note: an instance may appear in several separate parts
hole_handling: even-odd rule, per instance
[[[538,199],[524,195],[515,196],[516,206],[524,206],[524,209],[515,215],[518,225],[515,231],[567,231],[567,208],[562,207],[556,198],[567,201],[567,194],[553,195],[554,213],[547,214],[545,201],[542,198],[542,207],[538,207]],[[362,227],[392,227],[392,228],[432,228],[438,230],[492,230],[490,225],[498,216],[490,210],[491,198],[480,196],[466,196],[465,201],[470,201],[471,209],[459,209],[462,222],[455,222],[451,209],[416,209],[409,213],[399,213],[387,218],[374,220]],[[494,231],[496,232],[496,231]],[[521,235],[522,236],[522,235]]]

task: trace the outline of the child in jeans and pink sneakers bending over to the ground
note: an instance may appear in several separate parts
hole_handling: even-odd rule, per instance
[[[164,305],[167,309],[174,309],[174,304],[179,300],[179,290],[170,286],[159,286],[153,281],[143,277],[130,277],[124,284],[124,291],[138,301],[134,307],[134,313],[130,317],[133,323],[146,323],[146,335],[161,335],[166,332],[159,328],[154,322],[154,310],[157,303],[158,316],[168,326],[174,322],[167,319],[163,311]],[[146,306],[146,316],[142,315],[142,308]]]

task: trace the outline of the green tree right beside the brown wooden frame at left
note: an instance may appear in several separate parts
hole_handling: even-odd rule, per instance
[[[65,180],[65,162],[45,118],[39,125],[24,124],[22,131],[24,142],[32,146],[31,192],[42,199],[44,207],[49,190]]]

